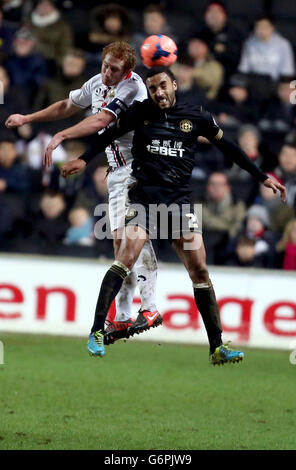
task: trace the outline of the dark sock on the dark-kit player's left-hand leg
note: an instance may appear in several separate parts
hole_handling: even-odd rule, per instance
[[[109,308],[127,275],[128,269],[123,265],[119,266],[118,264],[113,264],[105,274],[96,305],[95,319],[91,333],[98,330],[104,330],[105,319]]]

